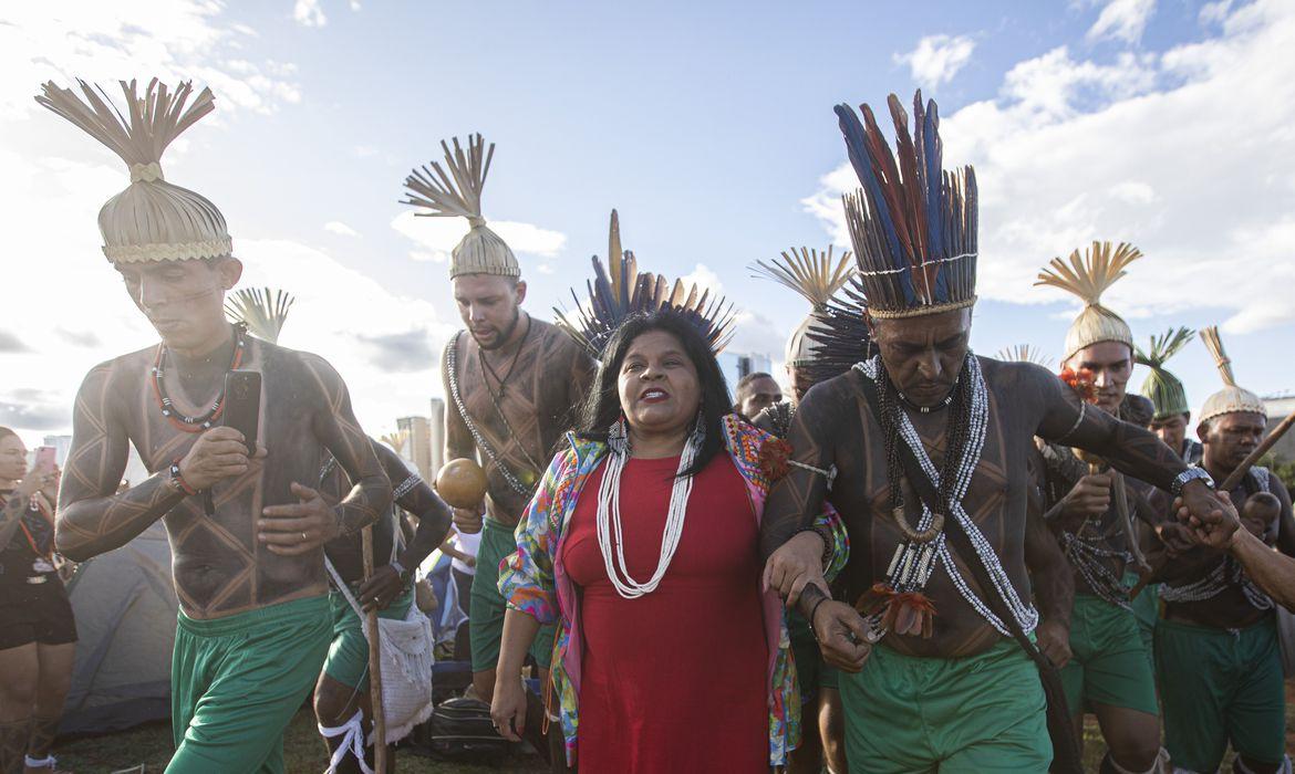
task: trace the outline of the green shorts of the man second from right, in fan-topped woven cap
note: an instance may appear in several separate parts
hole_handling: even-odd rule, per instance
[[[1072,716],[1093,702],[1160,713],[1155,676],[1132,612],[1090,594],[1075,594],[1070,651],[1061,682]]]

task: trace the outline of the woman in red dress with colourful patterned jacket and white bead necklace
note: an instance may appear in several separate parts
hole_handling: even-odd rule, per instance
[[[707,333],[664,311],[611,334],[500,579],[501,673],[561,621],[554,709],[587,773],[767,771],[799,735],[781,602],[760,579],[767,436],[726,415]],[[817,529],[805,540],[844,551],[839,520]],[[493,699],[515,738],[521,686]]]

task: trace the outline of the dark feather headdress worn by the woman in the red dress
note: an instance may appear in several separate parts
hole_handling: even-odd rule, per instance
[[[733,304],[723,296],[711,298],[710,290],[675,280],[671,285],[660,274],[640,273],[635,254],[620,247],[620,219],[611,211],[607,237],[607,267],[593,256],[593,280],[587,283],[589,299],[580,303],[575,289],[575,313],[554,308],[557,324],[589,355],[602,359],[602,351],[620,325],[636,316],[673,311],[695,326],[716,355],[733,338]]]

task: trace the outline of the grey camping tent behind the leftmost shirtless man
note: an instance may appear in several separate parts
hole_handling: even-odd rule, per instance
[[[162,523],[84,564],[69,590],[80,642],[60,731],[170,717],[177,602]]]

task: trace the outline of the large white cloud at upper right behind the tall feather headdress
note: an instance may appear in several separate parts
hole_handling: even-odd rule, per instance
[[[1106,299],[1121,313],[1221,308],[1234,333],[1295,321],[1273,293],[1295,281],[1295,8],[1257,0],[1221,27],[1116,65],[1055,49],[941,116],[945,166],[976,168],[982,298],[1061,300],[1032,287],[1048,259],[1127,239],[1146,258]],[[842,164],[803,202],[837,241],[856,186]]]

